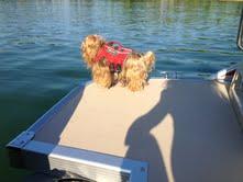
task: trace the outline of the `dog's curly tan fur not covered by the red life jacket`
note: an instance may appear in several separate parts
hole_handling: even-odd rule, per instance
[[[139,91],[147,84],[147,77],[155,64],[155,55],[147,52],[145,55],[132,52],[124,60],[121,72],[110,70],[106,59],[95,61],[96,55],[106,41],[100,35],[88,35],[81,43],[80,50],[87,67],[91,69],[92,79],[98,84],[110,88],[117,82],[128,87],[131,91]]]

